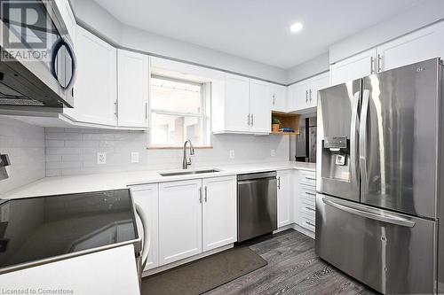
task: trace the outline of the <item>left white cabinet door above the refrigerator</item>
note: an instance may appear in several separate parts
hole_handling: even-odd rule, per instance
[[[364,51],[330,66],[330,84],[352,81],[375,73],[377,50]]]

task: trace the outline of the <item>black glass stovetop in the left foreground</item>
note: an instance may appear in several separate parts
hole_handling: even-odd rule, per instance
[[[136,239],[129,190],[16,198],[0,205],[0,271]]]

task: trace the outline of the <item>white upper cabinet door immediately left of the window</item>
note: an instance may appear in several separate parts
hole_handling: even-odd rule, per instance
[[[148,127],[149,57],[118,50],[118,125]]]

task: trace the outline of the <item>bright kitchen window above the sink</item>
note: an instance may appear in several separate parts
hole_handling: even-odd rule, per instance
[[[209,86],[209,83],[151,76],[149,147],[182,147],[187,139],[196,147],[210,145]]]

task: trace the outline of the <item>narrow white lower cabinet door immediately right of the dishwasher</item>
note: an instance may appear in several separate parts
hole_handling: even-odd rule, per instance
[[[292,222],[292,190],[291,171],[278,171],[278,191],[277,191],[277,218],[278,228],[289,225]]]

